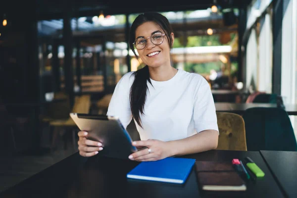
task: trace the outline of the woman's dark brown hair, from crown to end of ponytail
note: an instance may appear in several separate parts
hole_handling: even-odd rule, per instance
[[[168,19],[160,13],[157,12],[145,12],[136,17],[132,23],[129,35],[129,46],[135,54],[136,58],[139,59],[138,55],[134,49],[134,41],[136,37],[136,29],[145,22],[154,22],[158,24],[164,33],[166,34],[169,47],[172,48],[172,28]],[[143,127],[140,120],[140,114],[144,114],[144,107],[147,99],[148,85],[147,81],[151,84],[149,79],[148,65],[144,68],[133,73],[135,76],[134,82],[130,89],[130,108],[132,116],[139,126]]]

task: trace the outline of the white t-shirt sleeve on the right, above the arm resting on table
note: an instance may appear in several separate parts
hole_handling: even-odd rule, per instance
[[[201,77],[194,97],[194,123],[197,133],[204,130],[218,130],[217,117],[212,93],[207,81]]]

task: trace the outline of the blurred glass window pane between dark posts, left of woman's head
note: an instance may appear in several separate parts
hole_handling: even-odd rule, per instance
[[[113,89],[127,73],[126,15],[86,16],[73,19],[73,35],[80,42],[82,93]]]

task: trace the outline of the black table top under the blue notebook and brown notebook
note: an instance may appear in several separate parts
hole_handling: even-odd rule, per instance
[[[282,198],[280,187],[258,151],[210,150],[182,157],[196,160],[232,161],[249,156],[265,172],[265,177],[247,181],[246,192],[200,192],[193,167],[185,184],[169,184],[127,179],[126,174],[139,164],[136,161],[86,158],[75,153],[2,192],[1,198]]]

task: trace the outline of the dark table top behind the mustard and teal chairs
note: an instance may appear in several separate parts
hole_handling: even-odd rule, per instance
[[[216,111],[243,114],[245,110],[252,107],[277,107],[274,103],[232,103],[215,102]],[[289,115],[297,115],[297,104],[285,104],[285,110]]]

